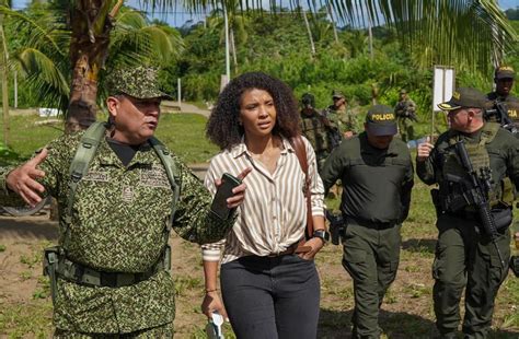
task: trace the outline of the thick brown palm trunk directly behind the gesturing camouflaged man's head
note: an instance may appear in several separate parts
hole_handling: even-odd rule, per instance
[[[79,0],[71,10],[72,81],[66,132],[85,129],[95,121],[99,72],[108,55],[112,17],[122,2],[118,1],[112,13],[109,0]]]

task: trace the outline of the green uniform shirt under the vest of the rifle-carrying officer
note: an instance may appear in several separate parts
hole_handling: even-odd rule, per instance
[[[471,136],[454,130],[442,133],[430,155],[423,162],[416,162],[418,177],[427,185],[443,185],[442,168],[449,153],[449,140],[461,138],[468,143],[480,142],[482,129]],[[485,148],[488,152],[493,182],[500,183],[505,177],[509,177],[515,186],[519,187],[519,140],[509,131],[499,128],[494,140],[485,143]]]

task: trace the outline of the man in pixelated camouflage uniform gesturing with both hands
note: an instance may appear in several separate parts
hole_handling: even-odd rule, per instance
[[[118,69],[109,77],[109,121],[85,175],[69,174],[83,133],[65,135],[24,165],[0,170],[0,201],[23,204],[15,192],[34,204],[44,190],[58,201],[60,249],[50,272],[57,276],[55,337],[171,338],[170,229],[189,242],[216,242],[235,217],[220,220],[210,212],[210,194],[173,155],[180,196],[172,221],[174,184],[152,147],[160,103],[168,96],[151,68]],[[243,192],[244,185],[237,187],[228,207],[240,204]]]

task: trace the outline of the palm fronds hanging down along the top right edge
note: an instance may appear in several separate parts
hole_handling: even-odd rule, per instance
[[[184,0],[183,3],[201,13],[220,2]],[[261,3],[246,1],[245,5],[258,9]],[[273,10],[279,10],[276,3],[270,1]],[[300,1],[290,3],[296,10],[302,10]],[[416,66],[422,68],[442,63],[487,73],[489,68],[503,61],[507,50],[517,48],[517,33],[496,0],[321,0],[307,3],[311,9],[330,5],[342,24],[366,27],[369,13],[374,25],[394,26]]]

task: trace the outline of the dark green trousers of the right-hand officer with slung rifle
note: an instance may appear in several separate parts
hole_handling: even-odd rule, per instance
[[[465,288],[464,338],[485,338],[492,325],[494,300],[508,273],[501,267],[494,244],[477,233],[475,222],[441,215],[432,264],[436,326],[450,338],[460,324],[460,300]],[[503,259],[510,258],[510,233],[497,237]]]

